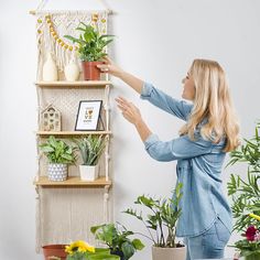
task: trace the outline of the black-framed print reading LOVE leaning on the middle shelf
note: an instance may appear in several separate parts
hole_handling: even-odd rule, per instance
[[[75,131],[97,130],[102,100],[79,101]]]

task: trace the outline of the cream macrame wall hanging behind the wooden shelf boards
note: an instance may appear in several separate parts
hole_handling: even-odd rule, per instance
[[[37,75],[36,80],[41,82],[43,65],[46,61],[46,54],[51,53],[58,71],[58,80],[65,80],[65,66],[75,58],[77,45],[64,39],[65,34],[76,35],[79,22],[95,26],[100,34],[108,33],[108,14],[115,14],[105,0],[98,0],[105,7],[104,10],[43,10],[47,0],[41,0],[39,7],[30,11],[35,15],[35,33],[37,44]],[[79,62],[78,59],[76,59]],[[79,77],[80,78],[80,77]],[[52,106],[61,112],[62,131],[72,131],[76,118],[79,100],[102,99],[106,109],[106,128],[109,129],[109,85],[105,93],[102,88],[65,87],[65,88],[41,88],[37,87],[39,111],[46,112]],[[39,126],[41,126],[41,113],[39,113]],[[100,162],[100,172],[108,176],[109,153],[105,153]],[[40,158],[37,160],[39,176],[44,176],[46,172],[46,162]],[[76,167],[71,169],[71,176],[77,176]],[[36,250],[43,245],[67,243],[72,239],[84,238],[95,245],[95,239],[90,234],[89,227],[96,223],[109,223],[111,219],[111,209],[109,208],[108,187],[105,187],[104,194],[94,188],[37,188],[39,196],[36,201]],[[104,201],[104,205],[100,202]],[[91,210],[89,210],[91,208]]]

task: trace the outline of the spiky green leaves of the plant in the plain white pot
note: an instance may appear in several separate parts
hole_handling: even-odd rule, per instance
[[[96,165],[102,151],[106,147],[107,140],[104,136],[89,134],[87,138],[74,140],[83,159],[83,165]]]

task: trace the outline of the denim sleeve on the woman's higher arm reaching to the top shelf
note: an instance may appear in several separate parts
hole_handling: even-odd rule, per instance
[[[185,121],[188,119],[188,116],[193,108],[193,105],[187,104],[184,100],[172,98],[171,96],[155,88],[150,83],[143,84],[140,97]]]

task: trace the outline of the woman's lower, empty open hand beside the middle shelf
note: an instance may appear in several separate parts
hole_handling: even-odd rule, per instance
[[[118,104],[118,108],[122,111],[122,116],[129,122],[137,126],[140,121],[142,121],[142,116],[139,109],[132,102],[129,102],[123,97],[116,98],[116,101]]]

